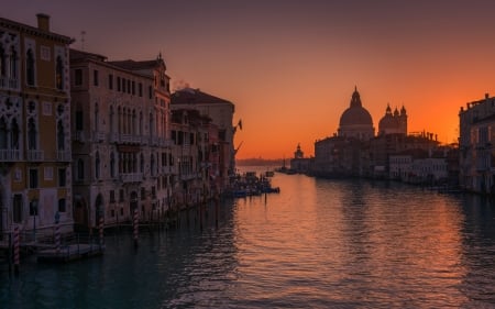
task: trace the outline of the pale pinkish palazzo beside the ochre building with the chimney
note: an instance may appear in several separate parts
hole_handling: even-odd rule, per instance
[[[151,220],[172,190],[169,77],[161,56],[108,62],[70,51],[74,220],[98,227]]]

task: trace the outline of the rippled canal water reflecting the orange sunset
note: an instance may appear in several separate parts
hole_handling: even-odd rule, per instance
[[[495,207],[400,184],[275,174],[279,194],[107,234],[102,257],[0,267],[0,308],[492,308]]]

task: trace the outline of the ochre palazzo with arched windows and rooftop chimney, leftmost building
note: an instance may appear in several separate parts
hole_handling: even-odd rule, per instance
[[[0,18],[0,238],[73,230],[68,36]],[[31,233],[30,233],[31,234]]]

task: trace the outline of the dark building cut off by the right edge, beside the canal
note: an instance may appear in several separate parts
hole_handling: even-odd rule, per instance
[[[466,103],[459,112],[460,185],[466,190],[495,192],[495,98]]]

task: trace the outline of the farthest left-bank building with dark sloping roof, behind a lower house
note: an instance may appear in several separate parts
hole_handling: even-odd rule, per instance
[[[229,186],[230,176],[235,173],[235,148],[233,145],[237,126],[232,125],[234,104],[228,100],[208,95],[199,89],[184,88],[172,95],[170,107],[175,109],[196,109],[207,115],[218,128],[219,175],[217,181],[222,188]],[[239,122],[240,129],[242,123]]]

